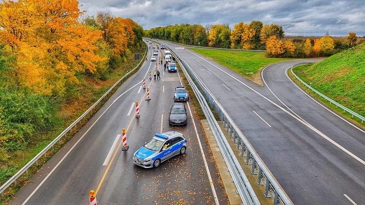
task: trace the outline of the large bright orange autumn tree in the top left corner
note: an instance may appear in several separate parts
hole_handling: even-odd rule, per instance
[[[105,60],[95,54],[98,47],[94,44],[101,39],[101,32],[76,21],[83,14],[78,4],[76,0],[21,0],[4,2],[0,7],[0,22],[5,22],[0,33],[11,34],[17,41],[6,41],[16,46],[18,67],[14,71],[20,82],[35,93],[63,95],[66,84],[79,83],[76,73],[93,73],[96,63]],[[13,12],[7,9],[9,5],[26,11],[29,21],[9,22]],[[19,31],[12,32],[14,27]]]

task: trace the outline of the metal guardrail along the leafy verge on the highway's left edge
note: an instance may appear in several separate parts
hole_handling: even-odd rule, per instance
[[[133,73],[133,71],[135,69],[137,69],[139,67],[139,65],[144,62],[144,57],[147,54],[147,50],[144,52],[143,58],[141,58],[141,61],[139,62],[139,64],[133,68],[131,71],[127,72],[125,74],[125,76],[123,76],[121,79],[118,80],[118,82],[116,82],[107,92],[105,92],[105,94],[96,102],[94,103],[93,106],[91,106],[90,108],[88,108],[84,114],[82,114],[75,122],[73,122],[71,125],[69,125],[56,139],[54,139],[51,143],[49,143],[38,155],[36,155],[32,160],[30,160],[25,166],[23,166],[23,168],[21,170],[19,170],[14,176],[12,176],[7,182],[5,182],[1,187],[0,187],[0,193],[2,196],[4,196],[4,191],[6,189],[8,189],[8,187],[12,184],[15,183],[16,184],[16,179],[19,178],[20,176],[22,176],[24,173],[28,174],[28,169],[34,164],[38,164],[38,160],[42,157],[45,156],[47,157],[47,151],[52,149],[53,150],[53,146],[54,144],[56,144],[58,141],[61,140],[62,137],[66,136],[66,134],[68,132],[72,132],[72,128],[74,128],[81,120],[83,120],[85,117],[88,116],[88,114],[115,88],[118,86],[118,84],[125,79],[127,76],[129,76],[131,73]]]

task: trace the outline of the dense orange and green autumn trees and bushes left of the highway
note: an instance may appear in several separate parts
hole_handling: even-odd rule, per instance
[[[106,80],[143,45],[132,19],[85,14],[76,0],[0,4],[0,162],[57,126],[81,80]]]

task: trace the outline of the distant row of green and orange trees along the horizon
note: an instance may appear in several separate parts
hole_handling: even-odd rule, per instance
[[[266,50],[268,57],[311,58],[332,55],[356,45],[356,33],[350,32],[346,41],[334,41],[328,33],[322,38],[286,39],[283,28],[276,24],[263,25],[240,22],[233,30],[228,24],[180,24],[145,30],[145,36],[186,45],[213,48]]]

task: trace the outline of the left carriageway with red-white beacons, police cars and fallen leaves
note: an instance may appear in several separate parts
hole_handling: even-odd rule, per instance
[[[150,50],[148,59],[151,53]],[[10,204],[88,204],[90,190],[96,191],[98,204],[228,204],[191,104],[186,103],[187,126],[168,124],[174,87],[182,84],[180,73],[165,72],[163,65],[158,65],[161,80],[150,80],[149,70],[155,68],[155,62],[145,61],[16,193]],[[145,101],[147,89],[143,89],[143,78],[150,88],[150,101]],[[136,101],[139,102],[138,119],[135,118]],[[126,129],[127,151],[121,150],[121,138],[118,138],[122,128]],[[134,152],[155,133],[167,131],[184,134],[188,140],[186,154],[171,158],[156,169],[134,165]]]

